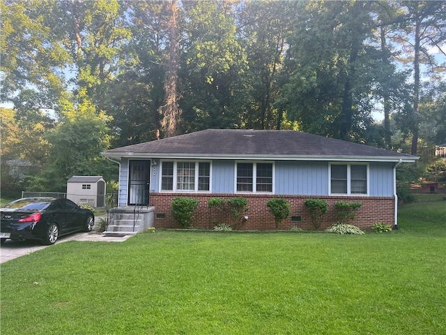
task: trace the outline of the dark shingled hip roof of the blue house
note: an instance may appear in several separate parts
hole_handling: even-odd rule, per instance
[[[378,149],[329,137],[300,133],[298,131],[256,131],[243,129],[208,129],[133,144],[105,151],[105,156],[152,157],[240,157],[282,158],[315,157],[379,157],[417,159],[415,156]]]

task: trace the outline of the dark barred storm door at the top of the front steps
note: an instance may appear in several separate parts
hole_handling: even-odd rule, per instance
[[[129,161],[128,204],[148,206],[151,161]]]

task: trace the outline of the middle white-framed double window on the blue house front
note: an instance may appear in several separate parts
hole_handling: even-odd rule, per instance
[[[237,192],[272,193],[272,163],[237,163]]]

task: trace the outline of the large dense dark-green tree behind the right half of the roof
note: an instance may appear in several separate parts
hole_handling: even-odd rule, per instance
[[[303,131],[343,140],[367,137],[376,59],[376,50],[365,43],[374,27],[370,6],[369,1],[300,3],[287,38],[282,101]]]

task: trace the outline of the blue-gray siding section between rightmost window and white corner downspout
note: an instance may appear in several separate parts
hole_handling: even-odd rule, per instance
[[[394,163],[370,163],[369,186],[371,197],[393,196]]]

